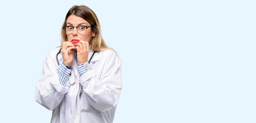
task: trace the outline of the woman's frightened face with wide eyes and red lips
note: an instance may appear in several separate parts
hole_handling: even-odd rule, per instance
[[[76,15],[70,15],[67,18],[67,26],[91,26],[85,19]],[[73,33],[67,34],[68,42],[71,42],[72,39],[78,39],[90,44],[92,37],[95,36],[95,32],[91,31],[91,27],[88,27],[84,34],[80,34],[77,31],[77,28],[73,29]]]

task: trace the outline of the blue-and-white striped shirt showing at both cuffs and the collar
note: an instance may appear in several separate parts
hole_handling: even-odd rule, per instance
[[[89,70],[92,70],[92,67],[90,66],[90,64],[88,63],[88,61],[80,66],[78,66],[78,61],[77,61],[77,54],[76,52],[74,52],[74,59],[76,61],[76,69],[80,75],[80,77],[86,73]],[[57,68],[57,73],[58,73],[58,80],[60,81],[60,84],[62,86],[66,86],[68,78],[71,74],[71,69],[67,68],[63,63],[61,63],[58,68]]]

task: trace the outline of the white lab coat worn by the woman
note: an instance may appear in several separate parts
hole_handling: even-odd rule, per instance
[[[51,122],[113,122],[115,108],[122,89],[121,61],[112,50],[95,52],[89,70],[79,77],[76,61],[64,87],[59,83],[56,54],[48,52],[43,72],[35,86],[35,100],[52,110]],[[89,52],[89,57],[92,51]],[[63,63],[62,53],[58,55]],[[89,58],[88,58],[89,59]],[[80,95],[80,85],[83,92]]]

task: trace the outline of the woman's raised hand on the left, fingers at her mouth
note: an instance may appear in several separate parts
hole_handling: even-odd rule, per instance
[[[70,42],[62,43],[62,57],[63,57],[63,64],[70,67],[71,63],[74,58],[74,45]]]

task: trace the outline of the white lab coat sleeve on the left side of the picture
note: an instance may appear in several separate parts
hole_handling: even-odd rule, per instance
[[[60,84],[55,55],[54,52],[47,54],[43,71],[35,85],[35,100],[48,110],[57,108],[69,90],[68,87]]]

